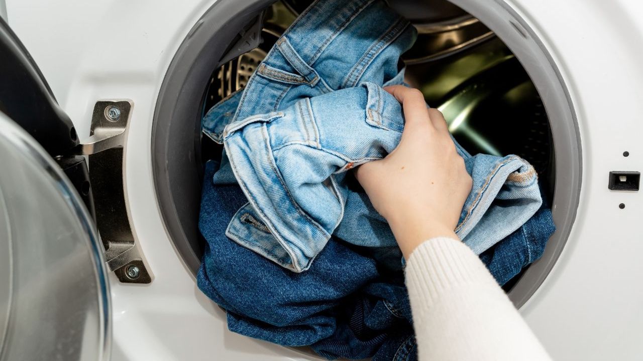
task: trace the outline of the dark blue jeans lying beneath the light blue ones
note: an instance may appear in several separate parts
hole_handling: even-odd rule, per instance
[[[226,310],[231,331],[311,346],[329,359],[417,360],[399,248],[331,238],[309,270],[291,272],[225,236],[230,218],[248,201],[233,179],[214,184],[216,170],[216,162],[206,164],[199,229],[207,245],[197,284]],[[553,231],[551,213],[542,207],[481,259],[502,284],[539,258]]]

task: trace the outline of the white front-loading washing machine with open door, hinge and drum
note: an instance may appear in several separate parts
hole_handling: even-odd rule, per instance
[[[547,183],[557,231],[505,288],[532,330],[554,359],[642,357],[643,4],[389,3],[455,136]],[[0,1],[0,359],[319,359],[231,333],[195,285],[201,116],[305,4]]]

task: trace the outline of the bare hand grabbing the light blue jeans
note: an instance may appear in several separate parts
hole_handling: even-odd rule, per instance
[[[428,109],[417,89],[394,85],[385,90],[402,103],[401,141],[384,159],[359,166],[355,176],[408,258],[430,238],[457,239],[453,230],[472,181],[442,113]]]

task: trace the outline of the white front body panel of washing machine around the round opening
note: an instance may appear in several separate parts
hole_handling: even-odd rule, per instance
[[[154,279],[132,285],[110,274],[112,359],[316,360],[228,331],[224,312],[198,290],[159,211],[151,136],[159,91],[177,49],[213,3],[6,0],[6,12],[81,141],[89,137],[97,100],[133,102],[125,197]],[[643,202],[637,192],[610,191],[607,183],[610,171],[643,168],[643,3],[454,3],[492,30],[501,25],[486,22],[480,8],[502,3],[518,14],[556,64],[577,120],[583,173],[574,226],[556,265],[520,312],[554,359],[640,359]]]

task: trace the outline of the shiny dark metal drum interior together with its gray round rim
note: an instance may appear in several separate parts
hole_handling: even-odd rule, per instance
[[[190,30],[165,75],[152,125],[154,185],[170,239],[194,273],[203,254],[197,227],[203,163],[221,155],[219,145],[201,137],[201,118],[244,87],[309,3],[218,1]],[[557,231],[543,258],[507,286],[520,306],[556,262],[578,204],[580,144],[565,84],[537,35],[506,8],[468,0],[390,5],[410,17],[419,33],[403,55],[406,81],[444,112],[467,150],[521,155],[546,188]]]

